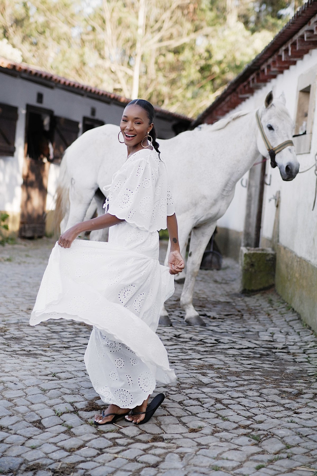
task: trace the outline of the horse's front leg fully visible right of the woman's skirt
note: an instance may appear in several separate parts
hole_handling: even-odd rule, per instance
[[[195,280],[198,274],[202,255],[206,249],[208,241],[217,222],[210,222],[198,228],[192,229],[191,243],[187,259],[187,275],[181,296],[181,307],[186,311],[185,322],[192,326],[205,326],[202,318],[192,305],[192,296],[194,292]]]

